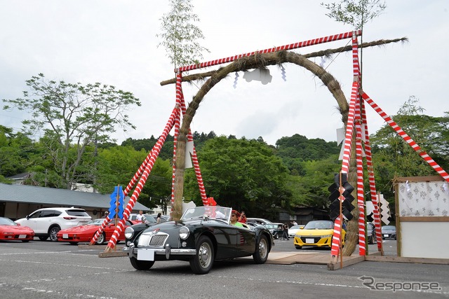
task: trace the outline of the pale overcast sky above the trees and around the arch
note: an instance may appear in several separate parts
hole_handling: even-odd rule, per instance
[[[195,25],[206,37],[200,43],[210,50],[203,61],[353,29],[328,18],[320,2],[192,0],[200,18]],[[391,116],[410,96],[420,99],[425,114],[443,116],[449,111],[445,85],[449,82],[449,1],[387,0],[386,4],[384,13],[366,25],[363,41],[401,37],[409,41],[363,52],[363,90]],[[156,38],[161,33],[159,19],[169,10],[168,1],[0,0],[0,99],[22,97],[25,81],[39,73],[55,81],[114,85],[133,92],[142,102],[129,111],[137,130],[117,132],[114,138],[121,143],[129,137],[158,137],[175,105],[175,86],[159,84],[174,73]],[[306,54],[349,42],[295,52]],[[192,132],[262,137],[272,145],[293,134],[335,141],[335,130],[342,127],[335,99],[309,71],[293,64],[284,67],[287,81],[274,66],[269,67],[273,78],[267,85],[248,83],[240,72],[234,88],[235,74],[231,74],[203,99]],[[340,81],[349,99],[351,53],[335,55],[324,67]],[[217,67],[202,71],[213,69]],[[187,103],[199,86],[184,83]],[[373,134],[384,121],[370,106],[367,112]],[[17,132],[27,117],[0,110],[0,125]]]

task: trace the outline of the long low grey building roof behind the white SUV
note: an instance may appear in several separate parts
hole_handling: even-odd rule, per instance
[[[109,194],[0,183],[0,202],[109,209],[111,201],[109,196]],[[128,204],[129,200],[130,197],[126,197],[125,203]],[[150,209],[140,202],[136,202],[133,211],[139,210],[149,211]]]

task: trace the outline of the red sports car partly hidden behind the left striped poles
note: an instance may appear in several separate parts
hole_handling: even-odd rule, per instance
[[[67,228],[65,230],[60,230],[58,232],[58,242],[69,242],[70,244],[78,244],[79,242],[91,242],[91,239],[95,235],[95,232],[98,231],[100,225],[102,225],[105,218],[95,219],[86,223],[85,225],[76,226],[74,228]],[[129,225],[133,225],[135,221],[126,221],[125,228]],[[105,244],[109,242],[112,234],[115,230],[114,220],[109,222],[109,225],[105,228],[102,235],[98,237],[97,242],[95,244]],[[123,230],[119,236],[119,241],[125,240],[125,230]]]

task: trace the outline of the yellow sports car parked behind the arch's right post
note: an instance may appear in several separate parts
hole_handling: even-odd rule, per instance
[[[334,223],[328,220],[314,220],[298,230],[293,239],[296,249],[302,249],[302,246],[331,247],[332,236],[334,234]],[[342,230],[342,244],[344,245],[344,236],[346,232]]]

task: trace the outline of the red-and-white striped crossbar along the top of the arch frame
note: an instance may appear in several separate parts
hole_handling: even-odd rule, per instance
[[[342,34],[335,34],[335,35],[331,35],[331,36],[325,36],[325,37],[321,37],[318,39],[309,39],[308,41],[300,41],[298,43],[290,43],[289,45],[285,45],[285,46],[268,48],[265,50],[254,51],[254,52],[250,52],[250,53],[246,53],[246,54],[240,54],[240,55],[230,56],[230,57],[226,57],[226,58],[220,58],[218,60],[210,60],[208,62],[201,62],[199,64],[191,64],[186,67],[180,67],[179,70],[180,71],[191,71],[193,69],[201,69],[203,67],[212,67],[212,66],[218,65],[218,64],[225,64],[228,62],[233,62],[234,60],[238,60],[241,57],[255,55],[255,53],[261,53],[261,54],[272,53],[272,52],[276,52],[276,51],[280,51],[280,50],[293,50],[293,49],[303,48],[303,47],[307,47],[307,46],[319,45],[320,43],[328,43],[330,41],[340,41],[341,39],[349,39],[349,38],[351,38],[351,36],[354,36],[354,34],[356,34],[356,36],[360,36],[361,30],[357,30],[355,32],[345,32]]]

